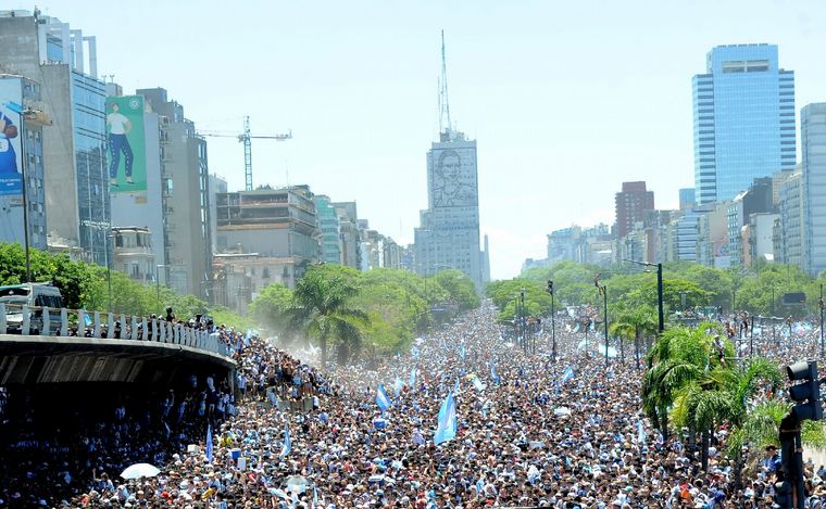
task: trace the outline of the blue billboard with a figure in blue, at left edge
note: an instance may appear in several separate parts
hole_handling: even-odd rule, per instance
[[[23,84],[0,79],[0,195],[23,194]]]

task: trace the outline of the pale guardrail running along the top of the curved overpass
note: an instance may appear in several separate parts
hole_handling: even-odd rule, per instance
[[[20,309],[13,310],[13,309]],[[75,318],[72,322],[70,318]],[[15,306],[0,303],[0,333],[60,338],[99,338],[166,343],[229,356],[229,347],[217,334],[184,323],[135,315],[66,309],[62,307]]]

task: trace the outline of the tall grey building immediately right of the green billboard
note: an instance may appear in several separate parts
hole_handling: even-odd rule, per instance
[[[136,96],[143,99],[145,109],[159,115],[163,258],[157,253],[158,259],[164,260],[161,282],[178,293],[209,297],[212,239],[206,141],[165,89],[139,89]],[[118,186],[130,189],[128,182]]]

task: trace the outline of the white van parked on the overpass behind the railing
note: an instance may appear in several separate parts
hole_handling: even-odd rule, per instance
[[[23,329],[23,306],[29,308],[29,334],[54,335],[60,330],[63,296],[51,283],[24,283],[0,287],[0,303],[5,304],[5,332],[20,334]],[[49,331],[43,331],[42,308],[49,308]]]

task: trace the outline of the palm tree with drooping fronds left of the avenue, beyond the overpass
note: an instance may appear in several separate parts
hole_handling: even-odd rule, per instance
[[[361,342],[359,328],[368,321],[363,309],[349,305],[359,294],[359,287],[352,275],[346,273],[345,269],[313,266],[298,281],[293,293],[290,308],[292,322],[318,341],[323,369],[327,369],[328,341],[338,339],[339,344],[345,345],[346,359],[349,352],[354,349],[353,346],[358,347]]]

